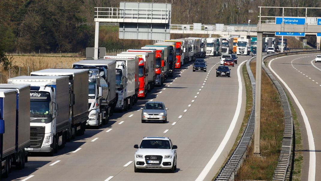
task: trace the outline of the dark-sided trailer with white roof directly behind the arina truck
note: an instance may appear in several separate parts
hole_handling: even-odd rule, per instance
[[[68,76],[69,113],[71,118],[70,138],[83,135],[88,120],[88,69],[48,68],[31,72],[31,76]],[[66,101],[65,100],[65,101]],[[66,101],[67,102],[67,101]],[[68,137],[69,138],[69,137]]]

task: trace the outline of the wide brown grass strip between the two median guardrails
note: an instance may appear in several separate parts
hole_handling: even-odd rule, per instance
[[[250,63],[255,77],[256,61]],[[280,156],[284,116],[279,94],[270,78],[262,71],[261,93],[261,157],[253,156],[253,141],[249,155],[240,167],[235,180],[272,180]]]

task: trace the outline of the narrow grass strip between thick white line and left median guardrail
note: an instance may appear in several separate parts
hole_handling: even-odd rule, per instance
[[[227,160],[230,158],[232,152],[234,151],[234,149],[236,148],[236,146],[239,143],[239,140],[241,139],[241,136],[245,130],[246,124],[247,124],[247,120],[248,117],[250,116],[251,110],[252,110],[252,104],[253,104],[253,96],[252,96],[252,85],[250,82],[250,79],[247,75],[247,69],[246,69],[246,65],[244,64],[242,66],[242,72],[243,72],[243,78],[244,78],[244,83],[245,83],[245,90],[246,90],[246,107],[245,107],[245,114],[244,114],[244,118],[243,118],[243,122],[241,124],[241,128],[239,130],[239,134],[235,139],[234,145],[232,147],[232,149],[230,150],[230,153],[228,154],[228,156],[226,157],[223,165],[221,166],[220,170],[222,169],[222,167],[224,166],[224,164],[227,162]],[[213,177],[212,180],[215,179],[215,177],[219,174],[219,172],[216,173],[216,175]]]

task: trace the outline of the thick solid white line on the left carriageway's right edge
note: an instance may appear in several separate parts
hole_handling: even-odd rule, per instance
[[[214,155],[212,156],[212,158],[208,161],[208,163],[206,164],[206,166],[204,167],[204,169],[202,170],[202,172],[200,173],[200,175],[196,178],[195,181],[202,181],[204,180],[204,178],[207,176],[207,174],[210,172],[211,168],[213,167],[214,163],[216,162],[216,160],[219,158],[219,156],[221,155],[223,149],[225,148],[227,142],[229,141],[231,134],[235,128],[236,122],[238,120],[239,117],[239,113],[241,111],[241,104],[242,104],[242,81],[241,81],[241,76],[240,76],[240,68],[241,65],[243,63],[245,63],[247,60],[243,61],[242,63],[239,64],[238,67],[238,81],[239,81],[239,94],[238,94],[238,103],[236,106],[236,110],[235,110],[235,114],[233,117],[233,120],[230,124],[229,129],[226,131],[226,134],[220,144],[220,146],[217,148],[217,150],[215,151]]]

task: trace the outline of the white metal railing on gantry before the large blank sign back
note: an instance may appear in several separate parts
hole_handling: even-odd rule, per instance
[[[95,7],[95,18],[169,20],[168,9]]]

